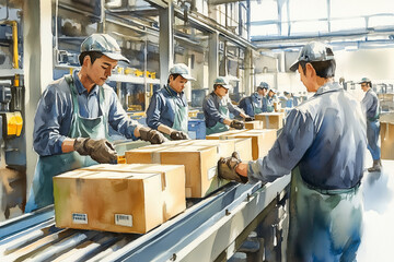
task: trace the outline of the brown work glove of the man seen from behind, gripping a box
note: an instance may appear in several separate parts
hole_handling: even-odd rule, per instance
[[[246,183],[247,177],[240,176],[235,168],[241,163],[240,155],[233,152],[230,157],[220,157],[218,162],[218,177],[227,180],[234,180],[240,183]]]

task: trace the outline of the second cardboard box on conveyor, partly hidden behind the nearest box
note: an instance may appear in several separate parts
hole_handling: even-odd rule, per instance
[[[184,165],[186,198],[204,198],[218,189],[216,146],[146,146],[127,151],[127,164]]]

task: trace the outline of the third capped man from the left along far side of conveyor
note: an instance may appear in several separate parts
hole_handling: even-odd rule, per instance
[[[221,133],[230,130],[230,128],[243,129],[245,126],[244,122],[236,119],[231,120],[230,112],[235,117],[242,117],[244,119],[251,118],[240,108],[232,105],[228,96],[229,88],[231,88],[229,81],[223,76],[219,76],[213,82],[213,92],[202,102],[207,135]]]

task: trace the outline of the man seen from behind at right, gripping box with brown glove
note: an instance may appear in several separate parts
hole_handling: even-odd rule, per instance
[[[287,258],[355,261],[362,230],[359,191],[367,148],[361,105],[334,82],[331,47],[312,41],[296,63],[310,99],[291,110],[267,156],[221,158],[218,174],[240,182],[271,182],[291,172]]]

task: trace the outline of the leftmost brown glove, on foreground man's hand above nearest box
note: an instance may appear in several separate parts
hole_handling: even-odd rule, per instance
[[[78,138],[74,141],[74,151],[80,155],[90,155],[93,160],[100,164],[116,164],[117,154],[109,141],[105,139],[95,140]]]

